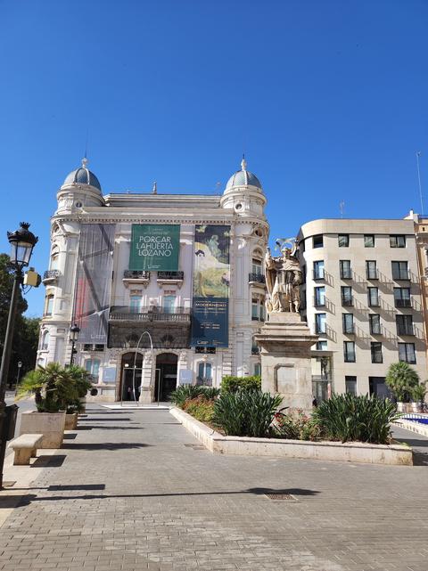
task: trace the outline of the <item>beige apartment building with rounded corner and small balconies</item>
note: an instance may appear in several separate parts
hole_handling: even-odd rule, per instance
[[[426,379],[413,219],[314,220],[301,226],[298,243],[305,278],[301,313],[319,336],[312,352],[314,393],[385,396],[386,372],[398,361]]]

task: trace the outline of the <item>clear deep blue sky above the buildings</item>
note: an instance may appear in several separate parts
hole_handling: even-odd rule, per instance
[[[341,200],[420,211],[416,151],[428,201],[425,0],[0,0],[0,21],[0,251],[28,220],[39,273],[86,136],[103,192],[216,192],[245,151],[273,240]]]

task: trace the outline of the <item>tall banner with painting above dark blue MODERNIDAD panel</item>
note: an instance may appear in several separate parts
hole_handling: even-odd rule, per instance
[[[230,226],[194,227],[193,347],[228,347]]]

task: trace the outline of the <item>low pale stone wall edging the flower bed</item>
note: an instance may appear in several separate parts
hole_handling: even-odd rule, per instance
[[[169,412],[212,453],[413,465],[413,452],[408,446],[222,436],[181,409],[173,407]]]

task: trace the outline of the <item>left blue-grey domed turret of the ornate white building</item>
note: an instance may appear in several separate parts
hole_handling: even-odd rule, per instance
[[[82,166],[67,175],[57,193],[58,208],[56,214],[78,212],[85,207],[103,206],[103,194],[98,178],[87,168],[86,157]]]

